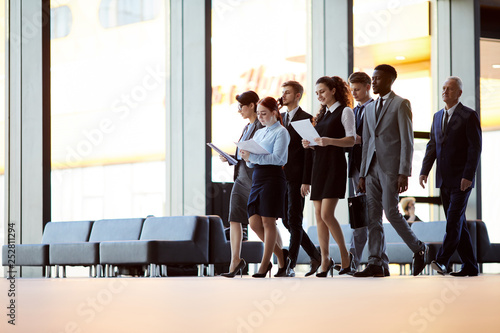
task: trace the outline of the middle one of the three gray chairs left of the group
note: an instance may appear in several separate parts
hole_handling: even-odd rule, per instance
[[[49,262],[51,265],[56,265],[57,272],[59,266],[62,266],[63,277],[66,276],[66,266],[96,267],[95,276],[100,277],[102,276],[102,266],[99,262],[100,242],[138,240],[143,222],[143,218],[95,221],[88,242],[52,244],[49,248]],[[90,274],[92,275],[92,272]]]

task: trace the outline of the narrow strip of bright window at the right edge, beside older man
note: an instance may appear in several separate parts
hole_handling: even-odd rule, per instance
[[[498,212],[498,142],[500,141],[500,40],[481,39],[481,153],[482,219],[488,226],[490,241],[500,243]]]

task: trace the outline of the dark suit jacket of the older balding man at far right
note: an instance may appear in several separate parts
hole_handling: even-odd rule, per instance
[[[437,160],[436,187],[460,188],[462,178],[472,181],[481,155],[481,125],[474,110],[458,103],[448,122],[446,134],[442,123],[444,109],[434,114],[431,138],[427,143],[421,175],[427,176]]]

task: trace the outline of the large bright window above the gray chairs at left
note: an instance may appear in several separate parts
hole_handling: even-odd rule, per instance
[[[103,1],[141,15],[111,30],[100,2],[68,4],[75,33],[51,41],[52,220],[165,214],[168,21],[153,2]]]

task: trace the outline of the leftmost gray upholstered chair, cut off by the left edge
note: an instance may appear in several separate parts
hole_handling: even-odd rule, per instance
[[[45,225],[41,244],[15,244],[15,266],[45,267],[45,276],[50,277],[50,246],[59,243],[86,242],[93,221],[49,222]],[[9,248],[2,248],[2,265],[9,265]]]

